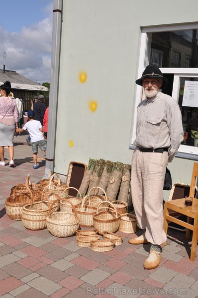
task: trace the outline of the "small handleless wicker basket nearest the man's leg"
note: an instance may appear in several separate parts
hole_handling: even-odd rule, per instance
[[[125,213],[121,215],[119,231],[123,233],[135,233],[137,230],[137,219],[134,213]]]

